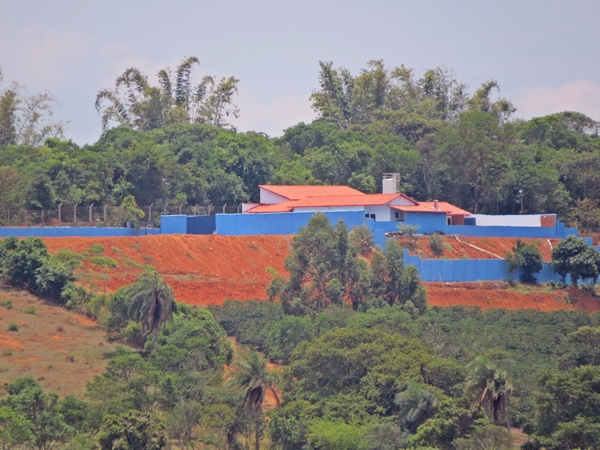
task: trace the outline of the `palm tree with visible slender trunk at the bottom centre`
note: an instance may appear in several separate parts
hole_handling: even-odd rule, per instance
[[[234,369],[231,386],[246,390],[246,396],[238,409],[238,414],[247,414],[254,418],[255,449],[259,450],[260,424],[265,394],[270,390],[275,395],[277,406],[279,406],[279,396],[274,389],[279,374],[274,370],[268,370],[267,360],[253,348],[248,349],[248,353],[234,364]]]

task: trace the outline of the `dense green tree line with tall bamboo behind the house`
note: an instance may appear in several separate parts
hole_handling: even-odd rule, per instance
[[[0,209],[119,205],[127,195],[160,207],[163,178],[173,205],[237,206],[257,201],[259,184],[371,193],[393,172],[417,200],[474,213],[558,213],[584,230],[600,229],[598,122],[583,114],[525,121],[493,80],[470,92],[439,68],[418,75],[371,61],[353,75],[321,62],[311,95],[316,120],[271,138],[236,131],[238,80],[196,81],[197,67],[197,58],[187,58],[160,71],[156,86],[136,68],[125,71],[113,89],[99,91],[105,131],[81,148],[56,133],[16,138],[21,116],[11,99],[19,97],[12,88],[0,92],[0,136],[7,136]]]

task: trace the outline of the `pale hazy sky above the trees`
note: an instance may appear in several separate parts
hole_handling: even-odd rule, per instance
[[[318,62],[359,73],[383,59],[443,67],[471,90],[494,79],[525,119],[572,110],[600,120],[598,0],[0,0],[0,91],[48,91],[66,136],[97,141],[98,90],[128,67],[152,84],[197,56],[240,79],[232,123],[280,136],[310,122]]]

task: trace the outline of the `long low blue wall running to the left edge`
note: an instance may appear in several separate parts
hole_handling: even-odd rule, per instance
[[[7,227],[0,228],[0,238],[14,237],[118,237],[118,236],[146,236],[151,234],[160,234],[156,228],[93,228],[93,227]]]

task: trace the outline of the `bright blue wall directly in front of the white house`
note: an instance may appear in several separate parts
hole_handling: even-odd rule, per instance
[[[224,236],[254,236],[258,234],[296,234],[313,216],[312,212],[273,214],[217,214],[217,234]],[[335,225],[338,219],[351,229],[364,223],[373,226],[363,211],[331,211],[324,213]]]

